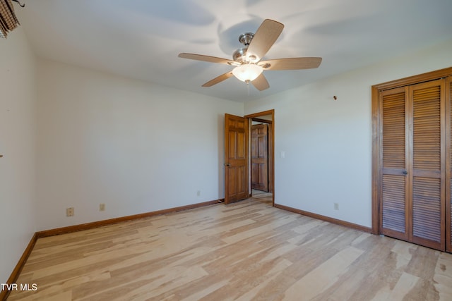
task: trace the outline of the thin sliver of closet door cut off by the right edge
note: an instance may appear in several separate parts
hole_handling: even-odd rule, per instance
[[[446,78],[446,251],[452,252],[452,77]]]

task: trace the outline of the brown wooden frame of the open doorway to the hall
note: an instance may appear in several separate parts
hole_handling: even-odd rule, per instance
[[[268,176],[270,176],[270,180],[268,181],[268,185],[270,185],[270,191],[272,192],[272,206],[275,206],[275,109],[262,111],[258,113],[252,113],[245,115],[244,118],[248,118],[250,120],[249,122],[249,136],[251,135],[251,120],[253,118],[258,118],[262,116],[271,116],[271,130],[268,131],[268,135],[271,137],[268,137],[268,154],[271,154],[271,160],[268,162],[268,167],[271,168],[271,171],[268,173]],[[248,137],[248,140],[251,140],[251,137]],[[248,152],[251,150],[248,149]],[[250,185],[250,192],[251,192],[251,156],[249,157],[249,185]]]

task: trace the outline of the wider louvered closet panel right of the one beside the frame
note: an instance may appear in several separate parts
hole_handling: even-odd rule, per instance
[[[409,99],[412,102],[412,171],[408,170],[412,185],[410,240],[444,250],[446,156],[445,118],[441,118],[445,116],[444,80],[410,86]]]

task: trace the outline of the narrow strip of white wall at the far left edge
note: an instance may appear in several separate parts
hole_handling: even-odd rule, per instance
[[[35,233],[35,57],[20,27],[0,39],[0,281]]]

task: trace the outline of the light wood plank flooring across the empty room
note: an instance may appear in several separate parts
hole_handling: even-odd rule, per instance
[[[37,240],[8,300],[452,300],[452,254],[268,195]]]

